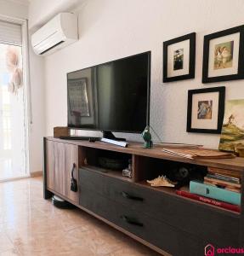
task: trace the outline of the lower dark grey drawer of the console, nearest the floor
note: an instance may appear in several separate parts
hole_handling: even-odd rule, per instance
[[[203,252],[203,246],[196,237],[124,207],[94,190],[81,188],[80,205],[167,253],[189,256]]]

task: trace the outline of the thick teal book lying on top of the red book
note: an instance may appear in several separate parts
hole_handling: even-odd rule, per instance
[[[190,181],[190,193],[203,195],[219,201],[226,201],[238,206],[241,205],[241,193],[220,189],[197,181]]]

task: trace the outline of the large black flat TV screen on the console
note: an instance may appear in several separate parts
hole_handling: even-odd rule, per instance
[[[149,125],[150,52],[67,74],[68,126],[141,132]]]

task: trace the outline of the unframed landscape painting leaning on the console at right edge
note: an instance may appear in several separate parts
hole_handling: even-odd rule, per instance
[[[244,100],[226,102],[219,150],[238,152],[244,148]]]

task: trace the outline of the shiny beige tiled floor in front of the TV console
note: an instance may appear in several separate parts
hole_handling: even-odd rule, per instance
[[[158,255],[79,209],[43,200],[41,177],[0,183],[0,256]]]

